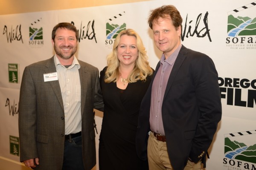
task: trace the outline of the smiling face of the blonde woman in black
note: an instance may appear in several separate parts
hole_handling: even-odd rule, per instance
[[[121,67],[134,67],[135,61],[138,57],[138,48],[136,37],[129,35],[122,35],[117,46],[117,57]]]

